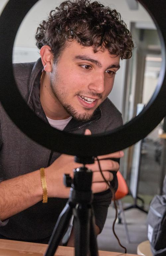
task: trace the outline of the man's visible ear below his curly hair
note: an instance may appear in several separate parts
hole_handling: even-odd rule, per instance
[[[51,53],[51,47],[43,45],[40,50],[41,61],[44,67],[44,71],[51,72],[53,65],[53,54]]]

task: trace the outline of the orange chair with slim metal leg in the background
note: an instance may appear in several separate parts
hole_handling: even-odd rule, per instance
[[[118,189],[115,193],[115,200],[117,200],[119,203],[120,212],[122,213],[124,230],[125,230],[125,234],[126,234],[126,240],[129,243],[130,238],[129,238],[127,223],[126,223],[126,219],[125,219],[125,215],[124,215],[124,209],[123,209],[123,205],[122,205],[122,201],[121,201],[121,199],[128,194],[128,187],[127,187],[126,181],[125,181],[123,175],[120,173],[120,171],[117,172],[117,178],[118,178]]]

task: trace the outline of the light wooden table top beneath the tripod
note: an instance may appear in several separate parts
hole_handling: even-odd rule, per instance
[[[42,256],[46,251],[46,244],[20,242],[0,239],[0,256]],[[74,256],[74,248],[59,246],[56,256]],[[99,251],[99,256],[135,256],[120,252]]]

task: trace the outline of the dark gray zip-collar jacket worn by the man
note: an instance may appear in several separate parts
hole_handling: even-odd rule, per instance
[[[15,64],[14,73],[18,88],[29,107],[48,123],[40,103],[42,68],[39,59],[36,63]],[[92,134],[96,134],[111,131],[120,125],[121,113],[107,98],[91,120],[78,122],[71,119],[65,130],[84,134],[88,128]],[[0,182],[47,167],[59,156],[60,153],[51,152],[20,131],[0,105]],[[112,185],[117,188],[116,176]],[[110,190],[94,194],[93,207],[100,231],[104,226],[111,198]],[[41,201],[10,217],[9,220],[0,221],[0,238],[47,243],[66,202],[67,199],[48,198],[46,204]]]

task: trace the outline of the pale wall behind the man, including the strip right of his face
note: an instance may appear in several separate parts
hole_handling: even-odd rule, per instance
[[[133,0],[134,1],[134,0]],[[0,11],[8,0],[0,0]],[[40,0],[33,8],[29,11],[27,16],[24,18],[19,31],[16,36],[15,46],[16,51],[14,54],[14,61],[35,61],[39,54],[38,50],[34,52],[36,48],[34,35],[38,24],[41,20],[45,19],[49,14],[49,11],[55,6],[58,6],[62,1],[59,0]],[[141,22],[142,24],[147,24],[150,26],[152,20],[144,8],[139,4],[138,10],[129,10],[128,5],[125,0],[102,0],[100,1],[104,5],[110,5],[112,8],[117,9],[121,13],[122,18],[130,27],[130,22]],[[110,99],[117,106],[117,108],[122,112],[123,104],[123,94],[124,94],[124,73],[125,73],[125,60],[121,63],[121,69],[116,75],[116,80],[114,88],[110,94]]]

